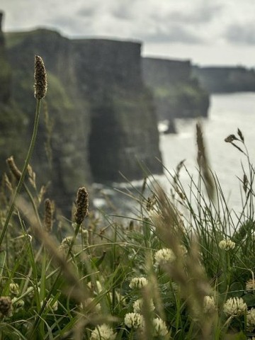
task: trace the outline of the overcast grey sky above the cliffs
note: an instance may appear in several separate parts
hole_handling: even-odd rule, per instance
[[[1,0],[3,30],[141,40],[142,54],[255,67],[255,0]]]

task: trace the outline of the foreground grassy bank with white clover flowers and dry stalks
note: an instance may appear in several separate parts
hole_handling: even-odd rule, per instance
[[[10,166],[0,191],[0,339],[253,339],[254,167],[240,130],[226,142],[248,164],[241,212],[210,171],[199,124],[198,181],[190,175],[184,190],[183,162],[165,171],[169,195],[145,179],[132,194],[135,218],[87,214],[79,188],[73,220],[63,219],[37,189],[33,147],[22,172]]]

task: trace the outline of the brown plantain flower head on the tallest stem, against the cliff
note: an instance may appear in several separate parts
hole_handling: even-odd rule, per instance
[[[43,60],[39,55],[35,55],[35,98],[42,99],[47,92],[47,74]]]

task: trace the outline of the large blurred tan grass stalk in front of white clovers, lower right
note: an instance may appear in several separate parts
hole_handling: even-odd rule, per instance
[[[176,256],[176,260],[165,265],[164,269],[174,282],[179,284],[181,295],[186,299],[191,314],[194,316],[194,322],[197,324],[199,339],[208,340],[215,318],[213,315],[208,319],[204,317],[204,297],[210,295],[212,290],[200,263],[198,243],[196,240],[193,241],[188,254],[183,254],[181,249],[184,234],[179,212],[162,190],[159,191],[159,202],[162,217],[159,217],[155,223],[157,233]]]

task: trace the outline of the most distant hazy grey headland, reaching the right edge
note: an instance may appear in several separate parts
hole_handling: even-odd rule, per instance
[[[211,94],[255,91],[255,69],[245,67],[193,67],[193,73]]]

